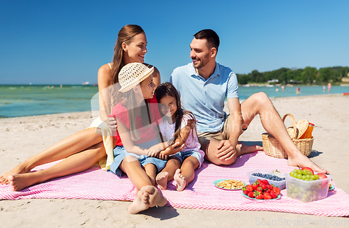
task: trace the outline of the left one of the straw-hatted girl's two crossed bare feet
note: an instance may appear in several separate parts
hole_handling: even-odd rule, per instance
[[[135,197],[135,200],[132,202],[130,206],[128,206],[128,212],[131,214],[139,213],[140,211],[147,210],[150,207],[149,205],[149,192],[153,192],[153,186],[144,186],[142,187]]]

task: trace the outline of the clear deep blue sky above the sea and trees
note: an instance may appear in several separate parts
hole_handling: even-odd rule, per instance
[[[125,24],[146,32],[145,61],[162,82],[191,61],[201,29],[218,33],[216,60],[235,73],[349,66],[348,8],[349,1],[321,0],[0,0],[0,84],[95,83]]]

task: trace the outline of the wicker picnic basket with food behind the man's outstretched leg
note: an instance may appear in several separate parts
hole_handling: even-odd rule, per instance
[[[299,137],[306,131],[309,122],[302,120],[296,123],[292,114],[285,114],[285,116],[283,116],[284,122],[286,116],[290,116],[292,119],[292,126],[288,128],[288,133],[290,134],[292,141],[295,143],[299,151],[308,156],[311,153],[311,148],[313,147],[314,137],[308,139],[299,139]],[[281,144],[269,133],[266,132],[262,134],[262,144],[265,154],[274,158],[288,158],[288,154],[286,153],[285,149],[283,149],[283,146],[281,146]]]

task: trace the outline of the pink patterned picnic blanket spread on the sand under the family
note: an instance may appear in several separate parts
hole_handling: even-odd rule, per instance
[[[37,167],[47,169],[54,165],[52,162]],[[348,216],[349,195],[336,187],[329,191],[327,198],[315,202],[299,202],[287,197],[286,190],[281,191],[281,199],[257,201],[246,199],[242,190],[221,190],[216,188],[214,181],[223,178],[232,178],[248,183],[247,173],[256,169],[273,171],[278,169],[281,173],[292,171],[287,160],[272,158],[264,152],[255,152],[242,155],[235,164],[230,166],[217,166],[204,162],[195,172],[195,179],[183,192],[176,191],[176,182],[168,183],[168,189],[162,190],[167,197],[167,206],[176,208],[203,208],[236,211],[279,211],[288,213]],[[20,192],[13,192],[8,185],[0,185],[0,199],[105,199],[132,201],[136,189],[124,174],[119,178],[111,172],[105,172],[99,167],[91,167],[84,172],[31,186]]]

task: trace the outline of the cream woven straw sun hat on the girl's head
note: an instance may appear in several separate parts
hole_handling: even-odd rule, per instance
[[[148,68],[143,63],[128,63],[119,73],[120,92],[125,93],[154,72],[154,66]]]

